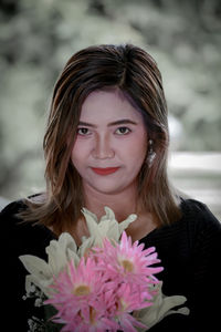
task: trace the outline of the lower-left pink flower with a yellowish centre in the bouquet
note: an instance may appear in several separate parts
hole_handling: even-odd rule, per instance
[[[95,261],[91,258],[86,261],[81,259],[77,268],[71,261],[67,270],[54,279],[51,298],[44,303],[57,310],[53,321],[65,324],[62,331],[91,331],[88,326],[98,329],[103,324],[106,328],[106,322],[102,320],[106,317],[106,303],[101,301],[104,291],[102,279],[102,273],[95,270]]]

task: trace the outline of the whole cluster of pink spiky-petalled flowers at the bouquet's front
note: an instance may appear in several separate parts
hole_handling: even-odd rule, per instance
[[[62,332],[134,332],[145,328],[130,313],[151,305],[150,284],[156,283],[152,268],[159,262],[155,248],[131,243],[123,232],[120,243],[104,240],[102,248],[92,248],[75,268],[71,261],[54,278],[51,298],[57,313],[53,321],[64,324]]]

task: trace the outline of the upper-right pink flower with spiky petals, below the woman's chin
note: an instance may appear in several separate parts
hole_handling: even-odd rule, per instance
[[[119,243],[113,246],[105,239],[103,248],[96,248],[94,255],[99,260],[99,270],[105,271],[107,279],[147,288],[147,283],[158,282],[154,273],[162,271],[161,267],[150,267],[160,262],[154,251],[155,247],[144,250],[144,243],[131,243],[131,238],[124,231]]]

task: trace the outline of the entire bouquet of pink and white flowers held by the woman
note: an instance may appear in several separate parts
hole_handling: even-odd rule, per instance
[[[186,301],[185,297],[162,295],[161,282],[155,277],[162,268],[152,267],[160,262],[155,248],[144,249],[144,243],[133,243],[126,236],[136,215],[119,224],[109,208],[105,211],[98,221],[83,209],[91,237],[83,238],[80,248],[64,232],[46,247],[48,262],[20,257],[30,272],[28,297],[34,286],[43,299],[38,303],[54,309],[44,326],[54,322],[62,332],[146,331]],[[187,314],[188,310],[180,312]]]

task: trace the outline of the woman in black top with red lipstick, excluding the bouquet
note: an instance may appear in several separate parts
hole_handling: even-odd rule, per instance
[[[167,115],[160,72],[140,48],[90,46],[69,60],[44,136],[46,190],[1,212],[19,331],[27,331],[33,303],[22,300],[27,271],[18,257],[45,258],[45,247],[63,231],[80,246],[88,236],[82,207],[99,218],[108,206],[118,222],[137,214],[127,235],[156,247],[164,294],[187,298],[189,315],[168,315],[149,331],[202,331],[218,320],[221,225],[168,181]]]

